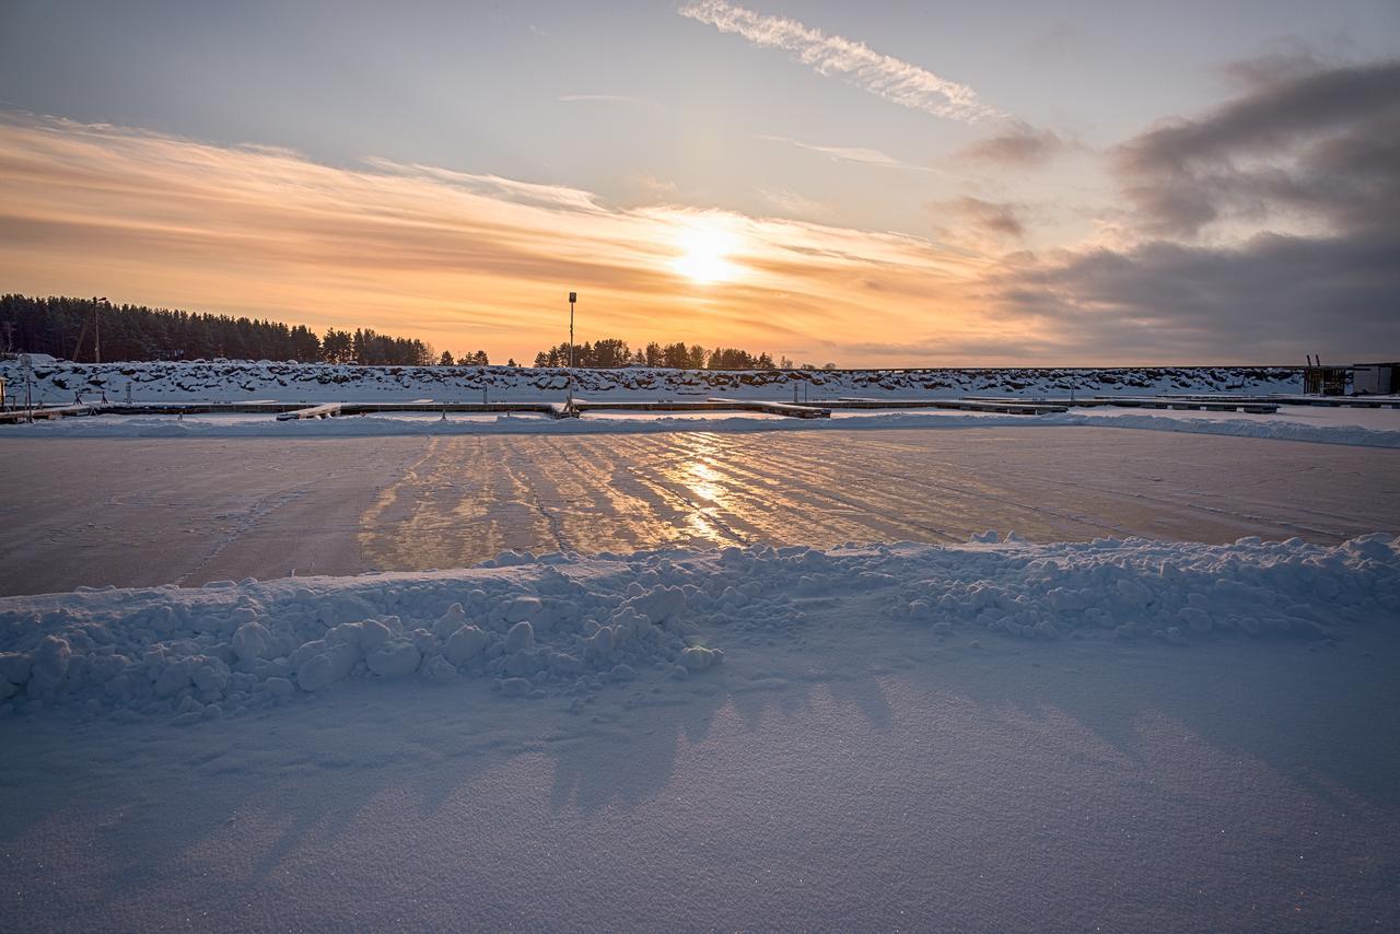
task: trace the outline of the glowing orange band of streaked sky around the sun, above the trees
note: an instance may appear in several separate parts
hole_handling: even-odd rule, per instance
[[[1005,363],[986,349],[1028,335],[980,298],[994,260],[916,237],[56,119],[0,123],[0,230],[10,291],[368,326],[498,361],[564,340],[570,290],[580,342],[924,365]]]

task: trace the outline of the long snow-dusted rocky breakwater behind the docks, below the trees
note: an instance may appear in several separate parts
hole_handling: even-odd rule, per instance
[[[11,391],[22,391],[17,360],[0,360]],[[270,361],[109,363],[35,361],[35,398],[43,405],[92,402],[105,391],[113,402],[127,389],[139,402],[274,399],[477,402],[483,391],[503,402],[559,400],[568,386],[563,370],[517,367],[346,367]],[[1299,392],[1302,375],[1289,367],[1130,367],[988,370],[769,370],[707,371],[575,370],[577,391],[595,399],[629,396],[791,398],[798,393],[874,398],[960,398],[966,395],[1047,396],[1071,389],[1093,395],[1194,392]],[[15,389],[20,388],[20,389]]]

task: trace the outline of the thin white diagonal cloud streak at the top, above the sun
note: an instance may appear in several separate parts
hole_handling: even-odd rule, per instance
[[[974,123],[1004,115],[983,104],[965,84],[949,81],[917,64],[881,55],[862,42],[826,35],[795,20],[770,17],[722,0],[700,0],[680,15],[734,32],[766,49],[783,49],[819,74],[837,74],[871,94],[935,116]]]

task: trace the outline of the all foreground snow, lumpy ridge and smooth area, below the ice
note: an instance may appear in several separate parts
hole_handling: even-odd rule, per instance
[[[0,601],[7,927],[1396,926],[1400,541],[979,538]]]

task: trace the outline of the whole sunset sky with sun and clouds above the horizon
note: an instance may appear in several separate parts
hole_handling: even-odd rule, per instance
[[[818,365],[1400,357],[1400,6],[0,0],[0,291]]]

